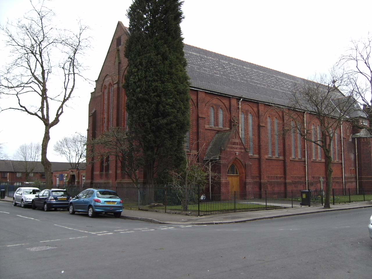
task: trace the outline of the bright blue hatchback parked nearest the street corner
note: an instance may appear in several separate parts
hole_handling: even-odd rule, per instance
[[[70,214],[86,212],[91,218],[97,214],[112,213],[119,218],[123,211],[123,201],[113,190],[90,188],[70,200],[68,211]]]

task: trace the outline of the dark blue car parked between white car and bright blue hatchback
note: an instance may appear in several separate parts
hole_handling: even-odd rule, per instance
[[[32,209],[43,208],[44,211],[57,208],[67,209],[71,196],[63,189],[42,190],[36,198],[32,200]]]

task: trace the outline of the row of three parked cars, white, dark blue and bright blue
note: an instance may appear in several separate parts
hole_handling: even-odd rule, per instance
[[[64,189],[45,189],[40,192],[36,187],[20,187],[13,196],[13,206],[17,204],[23,208],[31,205],[32,209],[42,208],[44,211],[61,208],[68,209],[70,214],[85,212],[89,217],[112,213],[119,218],[123,211],[123,201],[115,191],[93,188],[72,197]]]

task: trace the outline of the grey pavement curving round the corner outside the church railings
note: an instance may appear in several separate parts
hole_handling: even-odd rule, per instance
[[[0,199],[0,202],[13,202],[13,198],[6,197]],[[163,212],[143,211],[134,209],[124,209],[121,218],[153,222],[157,224],[193,224],[193,225],[208,225],[208,224],[228,224],[247,221],[255,221],[261,219],[271,219],[286,216],[295,216],[303,214],[315,214],[330,212],[336,210],[347,210],[356,208],[372,207],[372,201],[352,202],[331,205],[330,209],[324,209],[323,206],[302,206],[285,209],[272,209],[248,212],[231,212],[223,214],[213,214],[205,216],[189,216],[181,214],[170,214]],[[371,210],[372,214],[372,210]]]

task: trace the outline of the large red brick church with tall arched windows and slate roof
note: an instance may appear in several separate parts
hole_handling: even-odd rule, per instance
[[[111,126],[126,126],[123,83],[128,36],[128,28],[118,22],[91,93],[88,139]],[[185,148],[220,174],[213,182],[214,190],[320,189],[320,180],[326,180],[323,151],[298,135],[280,134],[288,119],[273,106],[285,105],[290,88],[303,79],[190,45],[184,46],[184,52],[191,96],[191,129]],[[305,112],[298,113],[305,118]],[[354,117],[368,125],[365,113]],[[307,119],[307,125],[316,130],[317,119]],[[368,131],[344,122],[333,148],[333,187],[372,190]],[[357,157],[357,153],[363,155]],[[88,185],[131,183],[114,157],[104,160],[104,168],[99,163],[87,167]]]

